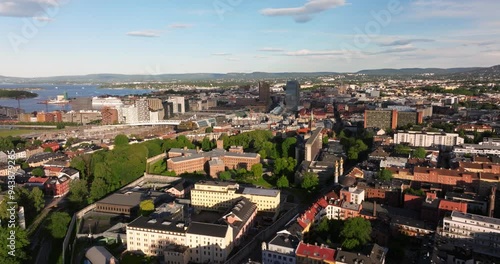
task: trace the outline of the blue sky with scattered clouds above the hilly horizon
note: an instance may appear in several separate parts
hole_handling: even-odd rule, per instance
[[[496,0],[0,0],[0,75],[500,64]]]

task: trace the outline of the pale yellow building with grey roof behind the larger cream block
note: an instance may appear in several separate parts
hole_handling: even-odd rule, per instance
[[[241,187],[232,182],[198,182],[191,190],[191,205],[198,210],[225,211],[240,197],[257,205],[258,211],[275,212],[280,207],[280,191]]]

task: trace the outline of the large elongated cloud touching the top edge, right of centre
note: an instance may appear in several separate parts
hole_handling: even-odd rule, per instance
[[[265,16],[293,16],[297,23],[305,23],[312,15],[345,5],[345,0],[307,0],[303,6],[288,8],[266,8],[260,13]]]

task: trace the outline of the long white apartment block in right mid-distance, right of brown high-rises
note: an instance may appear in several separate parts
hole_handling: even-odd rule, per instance
[[[455,133],[439,133],[439,132],[418,132],[399,131],[394,133],[394,144],[409,143],[415,147],[452,147],[464,143],[464,139]]]

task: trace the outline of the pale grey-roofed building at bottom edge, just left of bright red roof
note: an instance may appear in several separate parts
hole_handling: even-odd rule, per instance
[[[299,239],[288,231],[280,231],[269,243],[262,243],[262,264],[295,264]]]

